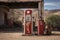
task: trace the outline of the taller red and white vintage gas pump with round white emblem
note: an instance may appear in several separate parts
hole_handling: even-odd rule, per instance
[[[32,34],[32,10],[26,10],[24,16],[25,16],[24,32],[25,34]]]

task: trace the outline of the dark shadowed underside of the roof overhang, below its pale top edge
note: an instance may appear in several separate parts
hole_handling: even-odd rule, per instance
[[[9,8],[38,8],[38,2],[0,2],[0,5],[5,5]]]

